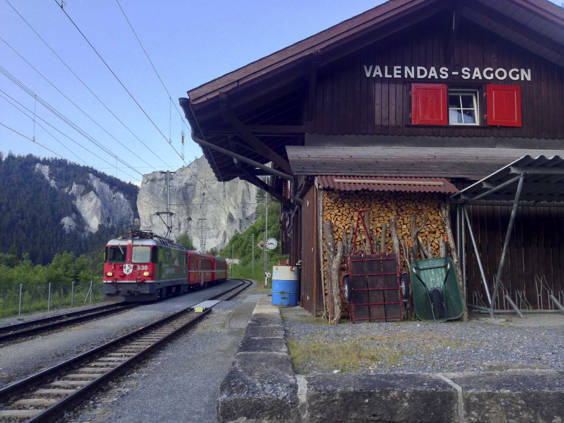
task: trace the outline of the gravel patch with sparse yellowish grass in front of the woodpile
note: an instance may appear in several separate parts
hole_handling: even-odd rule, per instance
[[[280,311],[297,373],[475,372],[502,363],[564,370],[564,315],[329,325],[299,307]]]

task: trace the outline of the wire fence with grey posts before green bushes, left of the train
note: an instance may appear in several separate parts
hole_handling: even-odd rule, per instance
[[[0,287],[0,318],[104,301],[101,283],[14,285]]]

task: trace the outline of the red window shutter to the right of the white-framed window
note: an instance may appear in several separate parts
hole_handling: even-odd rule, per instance
[[[488,84],[488,125],[521,126],[521,87]]]

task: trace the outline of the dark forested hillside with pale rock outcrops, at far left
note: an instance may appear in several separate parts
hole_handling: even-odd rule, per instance
[[[125,198],[137,217],[134,184],[59,158],[8,153],[0,161],[0,253],[15,245],[18,257],[27,253],[34,264],[47,265],[65,251],[95,254],[108,239],[121,235],[124,228],[116,225],[86,230],[77,201],[98,196],[92,183],[120,193],[118,199]]]

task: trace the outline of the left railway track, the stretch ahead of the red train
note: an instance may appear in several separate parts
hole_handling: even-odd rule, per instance
[[[137,306],[139,303],[116,303],[100,307],[92,307],[91,309],[78,310],[65,314],[58,314],[42,319],[28,320],[21,323],[0,327],[0,343],[12,341],[16,338],[29,336],[35,333],[55,329],[60,326],[80,323],[84,320],[90,320],[113,313],[120,312],[125,309]]]

